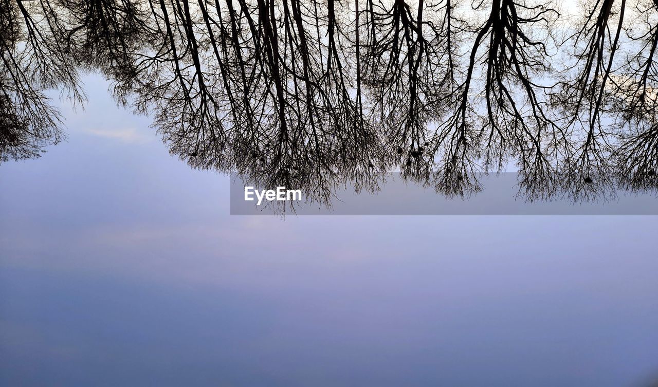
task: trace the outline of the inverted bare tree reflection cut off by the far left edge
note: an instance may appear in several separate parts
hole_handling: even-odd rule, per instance
[[[51,7],[0,0],[0,162],[37,157],[61,140],[59,115],[43,90],[64,88],[82,98],[63,28]]]

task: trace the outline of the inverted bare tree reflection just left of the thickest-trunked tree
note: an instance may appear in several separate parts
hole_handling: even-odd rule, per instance
[[[451,4],[424,15],[424,1],[412,9],[368,1],[364,33],[363,80],[373,103],[373,120],[382,126],[386,154],[405,176],[428,180],[432,156],[426,144],[431,120],[449,105],[455,84]],[[436,12],[438,10],[438,12]]]

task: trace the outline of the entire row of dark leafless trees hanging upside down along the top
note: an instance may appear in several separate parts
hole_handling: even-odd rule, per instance
[[[445,195],[658,189],[658,0],[0,0],[0,162],[61,140],[100,71],[172,154],[329,203],[390,170]]]

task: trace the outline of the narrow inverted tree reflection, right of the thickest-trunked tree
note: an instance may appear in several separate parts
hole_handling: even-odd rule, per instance
[[[567,113],[565,127],[574,142],[565,147],[563,172],[572,194],[595,197],[611,188],[611,133],[603,124],[624,20],[624,3],[597,0],[586,5],[584,20],[570,37],[576,76],[561,82],[555,101]],[[578,136],[582,133],[583,136]]]

